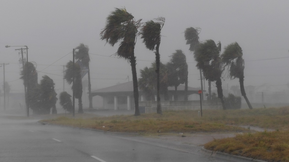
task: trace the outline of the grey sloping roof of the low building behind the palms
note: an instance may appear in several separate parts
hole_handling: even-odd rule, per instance
[[[140,89],[138,89],[140,91]],[[177,87],[178,91],[184,91],[185,86],[184,85],[179,85]],[[117,84],[114,86],[98,89],[95,91],[91,91],[91,93],[110,93],[110,92],[133,92],[134,91],[134,86],[133,82],[126,82],[122,84]],[[175,87],[168,87],[168,91],[175,91]],[[193,88],[188,86],[188,91],[199,91],[198,88]]]

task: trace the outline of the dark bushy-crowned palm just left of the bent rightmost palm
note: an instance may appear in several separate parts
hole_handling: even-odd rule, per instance
[[[225,102],[223,99],[222,80],[223,62],[220,58],[221,43],[212,40],[206,40],[198,44],[194,51],[194,58],[197,62],[197,68],[203,71],[206,80],[216,81],[218,98],[221,99],[223,109],[225,110]]]

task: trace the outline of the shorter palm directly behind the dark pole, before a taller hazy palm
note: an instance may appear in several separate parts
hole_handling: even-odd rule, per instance
[[[75,94],[75,98],[78,99],[78,113],[83,113],[82,109],[82,83],[81,83],[81,74],[80,74],[80,67],[77,63],[74,64],[74,71],[73,71],[73,62],[69,61],[66,64],[66,70],[64,71],[64,79],[68,84],[73,82],[73,75],[75,76],[74,84],[72,85],[71,89]]]

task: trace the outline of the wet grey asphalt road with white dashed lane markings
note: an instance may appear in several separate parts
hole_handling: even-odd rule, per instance
[[[145,142],[145,139],[138,140],[138,137],[41,125],[36,123],[37,120],[15,120],[15,118],[9,119],[9,117],[0,116],[0,161],[224,161],[202,155],[199,152],[199,146],[191,146],[191,153],[186,153],[161,147],[157,142],[149,143]]]

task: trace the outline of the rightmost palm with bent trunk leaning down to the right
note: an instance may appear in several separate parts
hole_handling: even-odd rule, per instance
[[[242,58],[242,48],[237,42],[229,44],[225,47],[223,54],[221,55],[223,62],[229,68],[229,76],[232,78],[239,78],[241,94],[246,100],[250,109],[253,109],[249,99],[246,96],[244,88],[244,59]]]

